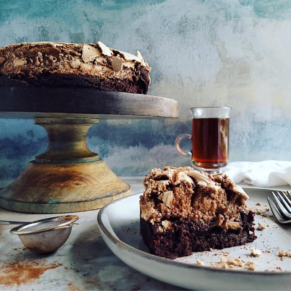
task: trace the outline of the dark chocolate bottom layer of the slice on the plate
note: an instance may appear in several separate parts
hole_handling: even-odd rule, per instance
[[[170,229],[161,233],[157,223],[152,225],[141,218],[141,234],[150,253],[175,259],[191,255],[192,252],[209,251],[210,248],[223,249],[252,242],[257,238],[253,214],[251,211],[248,214],[241,213],[243,229],[227,231],[217,226],[200,227],[193,221],[177,219],[172,221]]]

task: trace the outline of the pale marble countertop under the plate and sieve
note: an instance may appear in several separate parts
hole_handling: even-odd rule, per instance
[[[143,191],[141,177],[123,180],[131,185],[133,194]],[[100,236],[98,211],[76,213],[79,226],[72,228],[67,242],[52,254],[25,249],[18,236],[10,235],[11,226],[0,225],[0,290],[182,290],[141,274],[119,260]],[[0,208],[2,220],[35,221],[50,216],[56,215]]]

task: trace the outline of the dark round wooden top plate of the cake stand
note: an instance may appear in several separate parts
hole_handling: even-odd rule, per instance
[[[0,118],[177,118],[178,101],[152,95],[68,88],[0,87]]]

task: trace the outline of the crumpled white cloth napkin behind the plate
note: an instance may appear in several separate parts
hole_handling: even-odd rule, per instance
[[[287,161],[231,162],[221,172],[235,183],[259,187],[291,185],[291,162]]]

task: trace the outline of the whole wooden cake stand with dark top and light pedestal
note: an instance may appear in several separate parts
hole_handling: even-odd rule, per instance
[[[99,119],[178,117],[176,100],[151,95],[0,87],[0,96],[0,118],[33,118],[49,137],[46,152],[0,191],[0,206],[18,212],[86,211],[129,195],[129,184],[88,149],[88,129]]]

